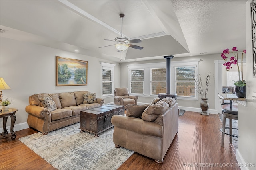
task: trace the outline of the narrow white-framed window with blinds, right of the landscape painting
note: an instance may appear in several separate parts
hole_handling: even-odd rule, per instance
[[[102,97],[114,95],[114,64],[101,63],[102,66]]]

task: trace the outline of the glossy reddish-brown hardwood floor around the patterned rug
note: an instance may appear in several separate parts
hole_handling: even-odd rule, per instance
[[[240,170],[228,137],[225,138],[224,147],[220,146],[221,124],[218,115],[204,116],[186,111],[184,116],[179,117],[179,131],[162,166],[134,153],[118,170]],[[0,140],[1,170],[55,170],[18,140],[36,132],[24,129],[16,131],[15,140]]]

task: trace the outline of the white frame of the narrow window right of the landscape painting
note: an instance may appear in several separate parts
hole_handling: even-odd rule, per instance
[[[114,96],[114,67],[116,64],[101,62],[101,97],[107,98]],[[112,94],[103,94],[103,70],[111,70]]]

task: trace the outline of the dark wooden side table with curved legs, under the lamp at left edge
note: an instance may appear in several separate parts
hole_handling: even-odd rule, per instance
[[[11,137],[12,140],[14,140],[16,138],[16,134],[13,131],[14,123],[16,121],[16,115],[15,115],[16,111],[17,109],[7,109],[7,110],[2,110],[2,113],[0,113],[0,118],[3,118],[3,128],[4,128],[4,131],[0,133],[0,139]],[[6,129],[6,122],[7,122],[8,116],[11,117],[11,129],[10,129],[11,133],[8,133],[8,130]]]

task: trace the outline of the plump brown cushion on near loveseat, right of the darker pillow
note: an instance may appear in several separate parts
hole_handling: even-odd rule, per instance
[[[144,121],[154,121],[158,115],[164,113],[169,108],[169,104],[165,101],[159,101],[156,104],[148,106],[142,113],[141,118]]]

